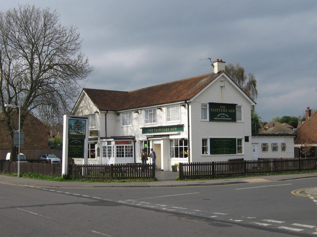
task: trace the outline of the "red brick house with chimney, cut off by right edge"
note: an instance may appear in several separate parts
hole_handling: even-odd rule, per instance
[[[294,141],[295,153],[298,156],[317,156],[317,111],[312,114],[312,110],[307,107],[305,111],[306,120],[301,122],[295,131]]]

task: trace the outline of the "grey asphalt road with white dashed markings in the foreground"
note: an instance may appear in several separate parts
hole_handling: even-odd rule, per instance
[[[170,188],[0,184],[1,237],[317,236],[317,178]],[[315,199],[316,198],[316,199]]]

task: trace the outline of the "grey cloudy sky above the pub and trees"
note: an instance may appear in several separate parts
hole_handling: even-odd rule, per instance
[[[129,91],[240,63],[263,121],[317,109],[316,0],[0,0],[50,7],[76,26],[94,71],[83,87]]]

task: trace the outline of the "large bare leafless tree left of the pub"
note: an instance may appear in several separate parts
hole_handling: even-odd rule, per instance
[[[77,98],[80,82],[93,70],[80,51],[82,39],[74,26],[65,27],[50,8],[18,5],[0,12],[0,109],[13,137],[12,109],[60,121]]]

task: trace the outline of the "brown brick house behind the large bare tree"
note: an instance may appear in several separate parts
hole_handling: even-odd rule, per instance
[[[14,122],[18,124],[18,115],[13,117]],[[0,115],[0,150],[11,150],[13,141],[6,130],[6,124],[4,119]],[[16,125],[18,127],[18,125]],[[35,118],[31,113],[28,113],[23,129],[24,132],[24,146],[21,146],[23,150],[46,150],[48,149],[48,128],[40,121]]]

